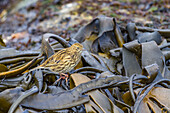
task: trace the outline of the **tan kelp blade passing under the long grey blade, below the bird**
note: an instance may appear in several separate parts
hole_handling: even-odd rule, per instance
[[[90,81],[88,77],[78,73],[72,74],[71,78],[75,86]],[[122,112],[119,108],[115,108],[112,101],[99,90],[96,89],[94,91],[87,92],[86,94],[91,97],[90,101],[85,104],[86,112],[94,112],[96,110],[96,112],[114,112],[116,110]]]

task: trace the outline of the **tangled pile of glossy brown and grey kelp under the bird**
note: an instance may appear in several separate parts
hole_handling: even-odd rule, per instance
[[[0,112],[169,112],[170,30],[99,16],[73,38],[46,33],[41,50],[0,50]],[[49,39],[56,40],[49,43]],[[33,69],[74,43],[85,51],[69,81]]]

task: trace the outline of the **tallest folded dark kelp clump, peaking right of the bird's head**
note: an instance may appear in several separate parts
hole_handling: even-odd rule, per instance
[[[95,21],[97,22],[95,23]],[[96,26],[98,26],[98,30],[94,33]],[[107,53],[110,49],[118,46],[122,47],[124,44],[122,33],[115,19],[105,16],[99,16],[91,23],[80,28],[73,38],[93,53],[99,51]]]

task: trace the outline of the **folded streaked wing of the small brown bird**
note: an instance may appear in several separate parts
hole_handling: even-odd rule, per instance
[[[66,55],[66,49],[62,49],[49,57],[41,66],[42,67],[51,67],[56,66]]]

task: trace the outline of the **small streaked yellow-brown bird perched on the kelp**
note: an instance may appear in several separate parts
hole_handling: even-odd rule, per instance
[[[64,73],[71,71],[79,63],[82,51],[83,45],[75,43],[69,48],[58,51],[38,67],[49,68],[55,73],[60,74],[60,79],[65,78],[62,75],[68,77]]]

